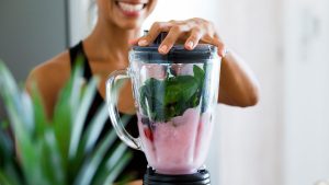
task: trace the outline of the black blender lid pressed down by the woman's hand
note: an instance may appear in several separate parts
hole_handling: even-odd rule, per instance
[[[205,62],[217,57],[217,47],[209,44],[198,44],[193,50],[188,50],[183,45],[173,45],[167,55],[158,51],[158,47],[167,36],[166,32],[158,35],[149,46],[133,46],[132,51],[137,60],[144,62]]]

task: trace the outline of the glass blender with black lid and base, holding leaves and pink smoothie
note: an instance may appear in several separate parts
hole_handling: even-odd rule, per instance
[[[204,162],[218,97],[220,58],[208,44],[193,50],[174,45],[167,55],[159,54],[164,37],[160,33],[149,46],[133,46],[129,67],[111,73],[106,82],[110,118],[122,141],[146,154],[145,185],[208,185],[211,175]],[[125,79],[133,84],[138,138],[125,130],[116,107]]]

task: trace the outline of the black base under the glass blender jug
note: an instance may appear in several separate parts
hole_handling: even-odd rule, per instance
[[[211,174],[207,170],[200,170],[186,175],[164,175],[148,167],[143,178],[143,185],[211,185]]]

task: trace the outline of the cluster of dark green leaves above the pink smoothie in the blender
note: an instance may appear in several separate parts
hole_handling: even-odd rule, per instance
[[[194,76],[150,78],[139,89],[141,113],[155,122],[168,122],[200,104],[205,73],[196,65]]]

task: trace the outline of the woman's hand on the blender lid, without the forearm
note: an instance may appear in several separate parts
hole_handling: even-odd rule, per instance
[[[189,50],[194,49],[198,43],[206,43],[217,46],[218,55],[225,56],[225,45],[217,35],[215,26],[212,22],[193,18],[185,21],[156,22],[152,24],[148,34],[138,38],[134,43],[139,46],[147,46],[152,43],[161,32],[168,35],[159,46],[160,54],[168,54],[175,43],[184,43],[184,47]]]

